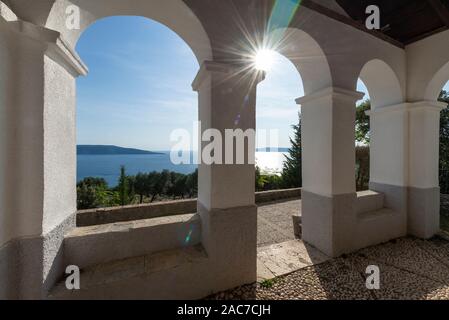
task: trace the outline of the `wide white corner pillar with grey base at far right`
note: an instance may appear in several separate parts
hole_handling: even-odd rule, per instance
[[[384,206],[394,210],[388,228],[395,230],[395,237],[430,238],[439,231],[439,127],[444,107],[422,101],[367,113],[371,119],[370,189],[383,193]]]

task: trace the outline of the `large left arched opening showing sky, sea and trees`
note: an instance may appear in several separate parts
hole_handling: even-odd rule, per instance
[[[170,158],[174,130],[196,139],[189,46],[158,22],[117,16],[92,24],[77,51],[90,68],[77,82],[78,209],[194,198],[192,155]]]

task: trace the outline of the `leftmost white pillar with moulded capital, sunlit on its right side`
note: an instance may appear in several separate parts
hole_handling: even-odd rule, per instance
[[[87,69],[58,32],[23,21],[8,28],[14,75],[5,79],[11,140],[2,215],[17,248],[11,287],[20,298],[42,298],[62,275],[63,235],[75,222],[75,78]]]

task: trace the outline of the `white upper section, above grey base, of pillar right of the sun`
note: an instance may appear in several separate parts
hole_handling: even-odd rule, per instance
[[[303,188],[322,196],[355,193],[355,102],[363,94],[327,88],[302,106]]]

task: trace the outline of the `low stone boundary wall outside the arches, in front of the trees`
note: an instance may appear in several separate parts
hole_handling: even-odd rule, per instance
[[[256,193],[256,203],[301,197],[301,189],[274,190]],[[78,227],[167,217],[197,212],[197,199],[166,201],[125,207],[82,210],[77,213]]]

